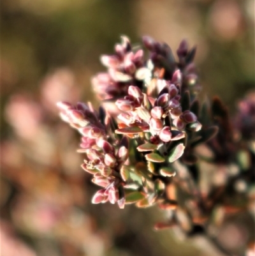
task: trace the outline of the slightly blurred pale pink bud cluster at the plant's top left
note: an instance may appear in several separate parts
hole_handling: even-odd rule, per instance
[[[99,73],[92,78],[92,85],[100,99],[125,95],[130,84],[136,84],[135,72],[143,66],[143,50],[136,52],[131,43],[122,36],[122,43],[115,45],[114,55],[101,56],[101,63],[108,72]]]

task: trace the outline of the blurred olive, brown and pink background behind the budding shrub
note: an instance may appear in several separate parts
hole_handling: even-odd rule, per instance
[[[96,186],[80,168],[78,134],[55,102],[90,101],[122,34],[148,34],[177,49],[197,45],[202,96],[231,112],[254,89],[254,0],[1,1],[1,255],[219,255],[153,224],[152,207],[92,205]],[[203,98],[203,97],[202,97]],[[208,247],[209,248],[209,247]]]

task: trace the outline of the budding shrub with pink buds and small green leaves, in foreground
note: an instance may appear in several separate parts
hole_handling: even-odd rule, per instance
[[[169,218],[156,229],[208,234],[228,252],[215,238],[222,223],[253,209],[254,98],[240,103],[232,122],[219,98],[198,100],[196,47],[183,40],[178,61],[149,36],[143,48],[122,36],[115,54],[101,56],[107,72],[92,78],[98,111],[91,103],[57,103],[62,119],[82,135],[82,168],[101,187],[92,203],[157,204]],[[247,235],[244,243],[251,240]]]

